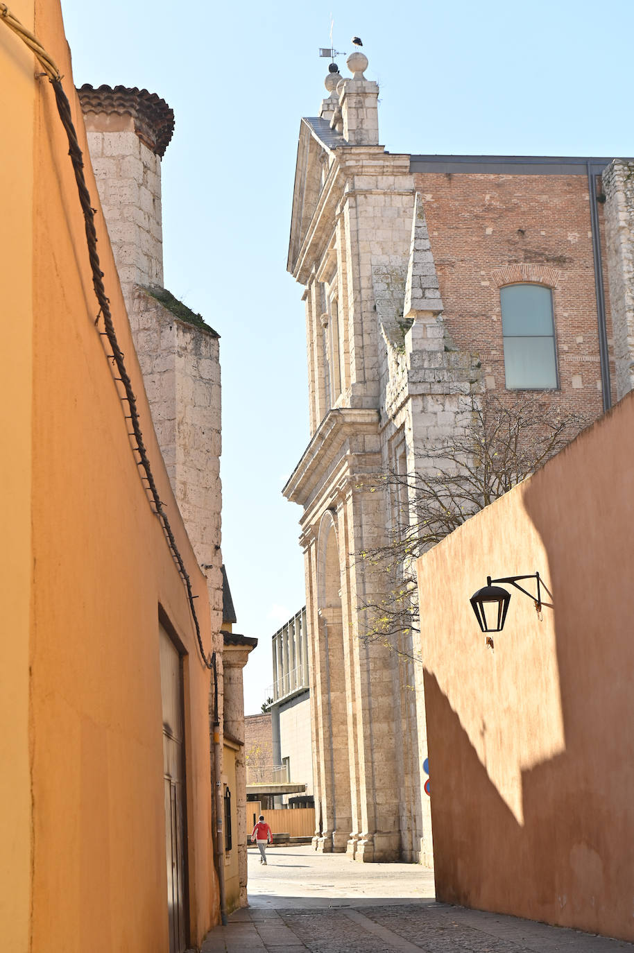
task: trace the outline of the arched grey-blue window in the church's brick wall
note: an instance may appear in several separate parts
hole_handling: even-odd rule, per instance
[[[500,289],[504,373],[510,391],[559,387],[553,295],[542,285]]]

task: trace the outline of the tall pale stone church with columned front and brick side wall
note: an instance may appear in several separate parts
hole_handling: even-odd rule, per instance
[[[622,160],[386,152],[367,65],[330,72],[301,120],[310,442],[283,492],[303,508],[317,849],[431,862],[412,638],[359,638],[384,582],[355,554],[395,518],[378,476],[430,466],[485,390],[594,418],[629,389],[632,190]],[[545,330],[518,333],[504,289],[536,296]]]

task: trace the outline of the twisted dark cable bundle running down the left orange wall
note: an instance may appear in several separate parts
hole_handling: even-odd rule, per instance
[[[174,531],[170,525],[170,520],[165,512],[164,505],[161,501],[161,498],[158,495],[158,490],[156,488],[156,482],[154,480],[152,466],[150,463],[150,458],[146,450],[145,444],[143,442],[143,435],[141,433],[141,426],[139,420],[139,413],[136,407],[136,397],[134,396],[132,381],[130,375],[126,369],[124,355],[119,347],[119,343],[114,331],[114,324],[112,322],[112,314],[110,310],[110,299],[106,295],[106,289],[103,282],[103,272],[101,271],[101,265],[99,262],[99,254],[97,253],[97,233],[94,227],[94,214],[95,210],[92,208],[91,196],[88,191],[88,186],[86,185],[86,178],[84,175],[84,161],[81,149],[79,147],[79,141],[77,139],[77,133],[75,132],[74,126],[72,124],[72,113],[71,113],[71,104],[69,98],[64,92],[62,87],[62,76],[60,71],[57,69],[55,63],[51,59],[49,53],[44,49],[36,36],[31,33],[31,30],[20,23],[20,21],[13,16],[6,4],[0,3],[0,19],[16,33],[20,39],[29,47],[29,49],[34,53],[38,62],[44,70],[44,75],[48,76],[53,92],[55,94],[55,102],[57,104],[57,112],[61,119],[62,125],[67,134],[69,141],[69,155],[71,156],[72,169],[74,171],[75,182],[77,183],[77,190],[79,193],[79,202],[81,205],[82,213],[84,214],[84,224],[86,228],[86,242],[88,245],[88,253],[91,261],[91,271],[92,271],[92,288],[94,289],[94,294],[99,305],[99,311],[95,319],[95,326],[98,325],[99,318],[103,317],[104,322],[104,331],[99,332],[99,334],[104,335],[108,338],[108,342],[112,348],[112,355],[108,355],[112,359],[112,364],[116,368],[118,377],[114,377],[115,381],[119,381],[124,390],[124,395],[121,397],[122,400],[127,401],[130,408],[130,415],[126,416],[127,420],[130,420],[132,423],[132,433],[129,432],[129,436],[133,436],[135,440],[135,446],[133,446],[133,453],[138,454],[139,459],[137,460],[137,466],[142,467],[145,476],[142,477],[148,482],[147,490],[150,491],[152,502],[154,505],[153,513],[160,519],[163,533],[168,541],[170,551],[174,558],[174,562],[178,567],[178,572],[183,579],[185,589],[187,591],[187,598],[189,600],[190,610],[192,613],[192,618],[194,619],[194,628],[196,634],[196,640],[198,643],[198,650],[200,652],[200,657],[203,660],[205,666],[213,670],[214,679],[215,679],[215,694],[217,698],[217,669],[215,665],[215,652],[211,656],[207,656],[205,653],[204,646],[202,644],[202,638],[200,635],[200,625],[198,623],[198,617],[196,616],[194,608],[194,596],[192,592],[192,581],[189,577],[187,569],[185,568],[185,562],[180,554],[180,551],[176,545],[176,540],[174,537]],[[217,709],[217,701],[215,702],[215,707]],[[217,714],[216,714],[217,720]]]

